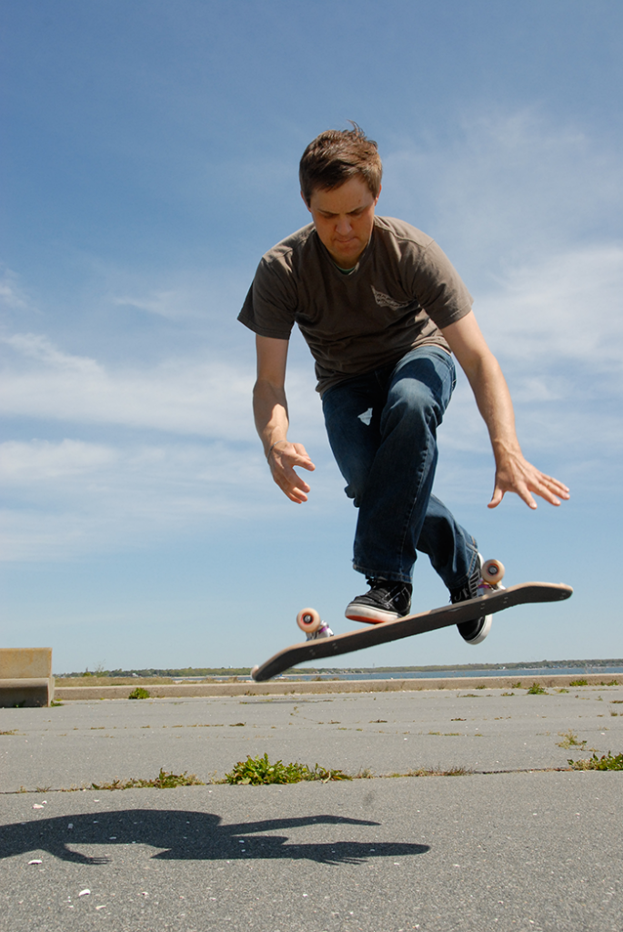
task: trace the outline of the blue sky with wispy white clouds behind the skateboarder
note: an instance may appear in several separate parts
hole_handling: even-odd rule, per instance
[[[251,419],[236,321],[264,251],[308,214],[305,145],[348,119],[384,159],[378,212],[452,258],[528,459],[572,487],[531,513],[493,487],[459,381],[437,493],[507,565],[571,583],[348,665],[620,657],[623,6],[615,0],[5,0],[0,247],[2,643],[56,671],[252,665],[296,611],[352,627],[356,513],[292,340],[293,505]],[[413,610],[447,593],[418,562]]]

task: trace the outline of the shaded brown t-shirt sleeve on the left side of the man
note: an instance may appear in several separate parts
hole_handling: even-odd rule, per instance
[[[238,321],[259,336],[288,340],[297,303],[296,285],[288,269],[264,257],[257,267]]]

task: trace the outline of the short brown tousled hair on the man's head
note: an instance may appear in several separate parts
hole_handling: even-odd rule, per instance
[[[331,190],[357,175],[368,185],[374,198],[381,190],[383,166],[377,145],[357,123],[352,126],[352,130],[321,132],[305,149],[299,178],[307,207],[316,188]]]

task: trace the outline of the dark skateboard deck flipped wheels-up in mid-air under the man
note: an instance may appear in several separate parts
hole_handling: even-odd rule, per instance
[[[569,598],[573,589],[563,583],[520,583],[508,589],[494,590],[485,596],[467,599],[456,605],[445,605],[441,609],[420,611],[416,615],[405,615],[393,622],[366,624],[356,631],[344,635],[320,637],[306,640],[301,644],[292,644],[270,657],[264,664],[251,670],[251,677],[256,682],[277,677],[291,666],[308,660],[321,660],[325,657],[337,657],[342,653],[360,651],[364,647],[386,644],[388,641],[400,640],[401,637],[422,635],[427,631],[436,631],[451,624],[468,622],[481,615],[490,615],[496,611],[511,609],[515,605],[533,602],[560,602]]]

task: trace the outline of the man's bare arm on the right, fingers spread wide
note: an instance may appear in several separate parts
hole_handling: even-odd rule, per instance
[[[495,485],[489,508],[499,505],[506,492],[516,492],[530,508],[536,508],[533,493],[552,505],[560,505],[561,499],[569,498],[569,489],[524,459],[506,379],[473,312],[441,332],[469,380],[491,438]]]

